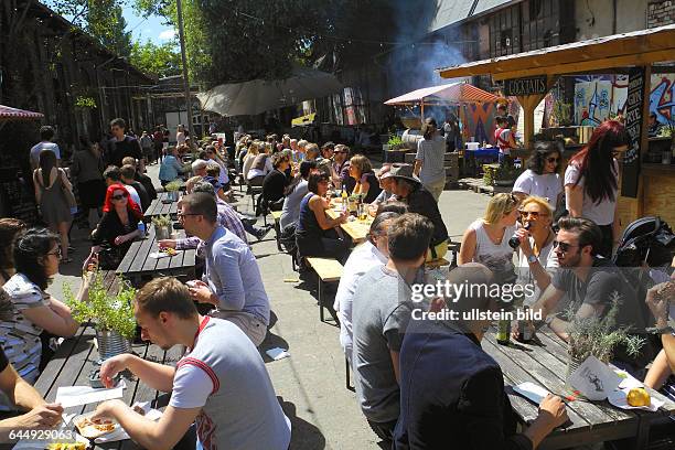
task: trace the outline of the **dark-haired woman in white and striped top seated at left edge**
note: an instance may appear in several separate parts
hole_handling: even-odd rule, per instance
[[[35,383],[53,354],[51,338],[73,336],[79,328],[71,309],[45,292],[58,274],[60,244],[58,236],[44,228],[20,235],[13,248],[17,271],[2,287],[9,301],[2,304],[0,345],[30,384]],[[90,282],[90,275],[83,278],[78,301],[88,298]]]

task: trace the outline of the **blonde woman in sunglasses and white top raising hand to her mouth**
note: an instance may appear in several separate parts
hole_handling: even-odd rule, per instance
[[[556,234],[553,231],[554,208],[546,199],[531,195],[519,207],[521,224],[516,236],[518,247],[518,278],[522,286],[533,286],[534,290],[525,291],[525,304],[532,306],[550,283],[547,269],[558,267],[553,253]],[[527,229],[525,228],[527,227]]]

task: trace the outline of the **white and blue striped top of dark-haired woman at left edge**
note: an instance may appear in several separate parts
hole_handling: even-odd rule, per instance
[[[28,320],[23,311],[49,306],[49,294],[23,274],[15,274],[0,291],[0,345],[19,375],[31,384],[40,375],[43,329]]]

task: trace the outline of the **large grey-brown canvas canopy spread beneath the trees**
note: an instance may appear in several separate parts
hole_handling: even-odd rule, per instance
[[[253,116],[342,90],[334,75],[297,67],[286,79],[253,79],[224,84],[197,94],[204,110],[222,116]]]

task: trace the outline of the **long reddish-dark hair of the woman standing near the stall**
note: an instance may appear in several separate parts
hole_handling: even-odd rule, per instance
[[[574,156],[570,162],[579,165],[579,178],[583,178],[583,192],[594,203],[603,200],[614,201],[618,189],[612,151],[617,147],[629,146],[631,138],[623,124],[607,120],[596,128],[588,144]]]

